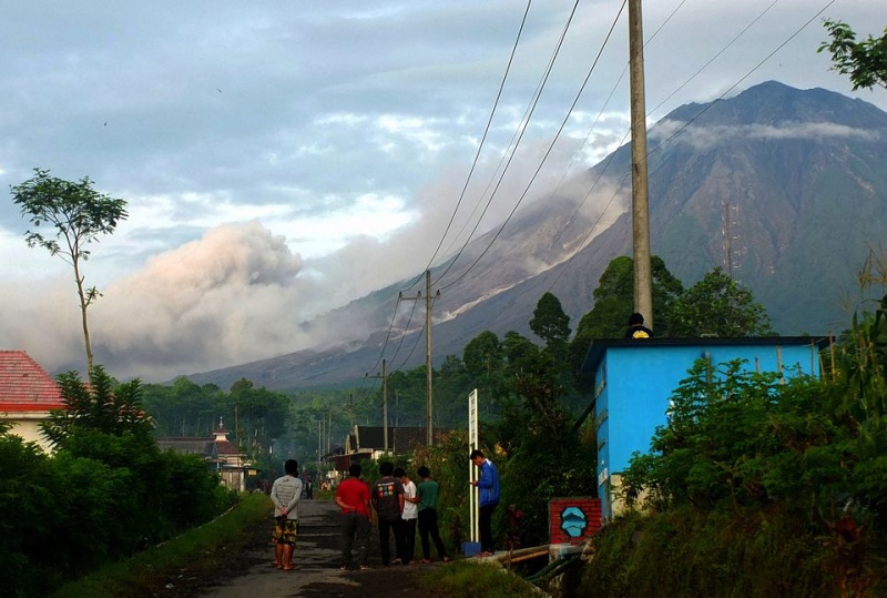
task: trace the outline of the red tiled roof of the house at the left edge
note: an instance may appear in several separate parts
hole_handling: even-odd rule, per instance
[[[0,413],[64,407],[55,381],[23,351],[0,351]]]

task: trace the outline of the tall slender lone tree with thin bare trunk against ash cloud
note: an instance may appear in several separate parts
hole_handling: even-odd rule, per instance
[[[92,181],[64,181],[49,175],[48,170],[34,169],[34,176],[13,186],[13,202],[28,216],[33,230],[24,233],[29,247],[37,245],[59,255],[74,268],[74,281],[80,297],[83,341],[86,346],[86,369],[92,369],[92,345],[86,320],[86,308],[101,293],[84,286],[81,262],[90,257],[86,246],[99,235],[111,234],[120,221],[126,219],[126,202],[110,197],[92,189]],[[41,226],[50,226],[54,234],[44,235]],[[61,243],[60,243],[61,242]]]

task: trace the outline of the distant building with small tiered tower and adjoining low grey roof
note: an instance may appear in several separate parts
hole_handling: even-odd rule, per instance
[[[247,478],[256,477],[257,472],[246,460],[246,454],[228,439],[228,429],[218,419],[213,436],[207,438],[165,437],[157,438],[162,450],[174,450],[182,455],[200,455],[210,470],[222,477],[222,484],[232,490],[244,491]]]

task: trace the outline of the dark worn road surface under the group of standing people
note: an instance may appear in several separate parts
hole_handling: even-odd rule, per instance
[[[274,568],[269,543],[273,520],[254,530],[251,541],[225,559],[214,579],[192,586],[191,596],[206,598],[283,598],[290,596],[390,596],[414,594],[422,570],[436,565],[383,567],[377,528],[369,538],[369,571],[339,570],[338,509],[329,500],[303,500],[293,571]],[[425,592],[429,596],[428,592]]]

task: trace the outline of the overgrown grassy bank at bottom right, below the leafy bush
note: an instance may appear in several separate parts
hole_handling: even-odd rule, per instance
[[[778,511],[629,513],[593,544],[594,558],[568,596],[842,596],[832,548],[803,519]]]

